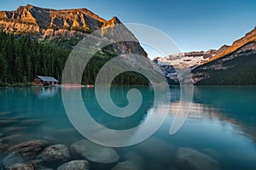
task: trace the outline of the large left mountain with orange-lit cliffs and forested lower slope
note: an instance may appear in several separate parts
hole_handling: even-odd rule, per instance
[[[90,34],[98,29],[102,30]],[[152,65],[137,38],[116,16],[105,20],[86,8],[55,10],[26,5],[15,11],[0,11],[0,86],[32,82],[38,75],[55,77],[61,82],[70,52],[89,34],[90,41],[96,41],[96,45],[111,42],[116,37],[131,41],[115,42],[101,49],[90,47],[90,44],[85,46],[88,49],[79,48],[79,54],[88,56],[92,50],[98,51],[85,68],[84,59],[73,59],[77,65],[70,68],[73,70],[69,73],[84,69],[82,79],[73,79],[94,84],[102,66],[110,60],[115,67],[108,71],[125,70],[114,78],[113,84],[147,85],[148,79],[134,70],[147,72],[152,79],[158,79],[161,71]],[[90,42],[81,43],[87,45]],[[120,57],[115,58],[117,55]],[[108,80],[108,77],[103,79]]]

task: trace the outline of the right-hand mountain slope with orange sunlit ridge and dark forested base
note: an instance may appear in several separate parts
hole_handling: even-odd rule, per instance
[[[256,27],[193,71],[195,84],[255,85]]]

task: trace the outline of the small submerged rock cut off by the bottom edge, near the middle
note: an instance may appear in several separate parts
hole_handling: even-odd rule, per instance
[[[138,164],[137,161],[122,161],[119,162],[112,170],[143,170],[143,166]]]

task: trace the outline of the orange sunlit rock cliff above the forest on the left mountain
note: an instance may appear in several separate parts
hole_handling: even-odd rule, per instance
[[[89,33],[109,22],[86,8],[55,10],[32,5],[20,6],[15,11],[2,11],[0,21],[3,31],[34,33],[39,37],[49,37],[49,31],[60,30]]]

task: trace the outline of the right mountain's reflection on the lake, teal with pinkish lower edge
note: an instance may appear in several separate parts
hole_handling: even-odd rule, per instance
[[[222,127],[235,128],[239,135],[246,135],[256,142],[254,98],[253,87],[195,87],[188,119],[217,121]],[[172,102],[170,114],[174,116],[178,107],[178,101]]]

